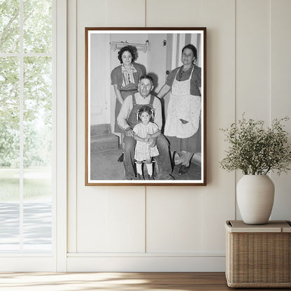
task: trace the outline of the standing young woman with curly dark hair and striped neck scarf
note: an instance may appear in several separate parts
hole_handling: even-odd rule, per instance
[[[115,132],[121,132],[121,141],[123,142],[124,133],[118,127],[116,118],[120,112],[123,100],[129,95],[138,92],[139,78],[146,74],[146,70],[140,64],[134,63],[136,56],[134,48],[127,45],[118,52],[120,66],[117,66],[111,72],[111,84],[113,85],[116,103],[115,103]],[[122,143],[121,142],[121,143]],[[123,152],[118,162],[123,162]]]

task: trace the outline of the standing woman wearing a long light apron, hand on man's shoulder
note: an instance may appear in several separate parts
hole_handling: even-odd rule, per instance
[[[171,90],[164,135],[169,140],[172,154],[185,152],[178,173],[187,173],[195,152],[201,152],[201,68],[197,49],[185,45],[181,60],[183,66],[173,69],[157,97],[162,98]]]

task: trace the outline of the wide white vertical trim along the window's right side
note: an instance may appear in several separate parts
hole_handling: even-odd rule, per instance
[[[56,146],[57,146],[57,271],[66,270],[66,252],[67,252],[67,220],[66,220],[66,177],[67,177],[67,160],[66,160],[66,13],[67,1],[56,1],[57,8],[57,52],[56,52],[56,69],[57,69],[57,98],[56,98]]]

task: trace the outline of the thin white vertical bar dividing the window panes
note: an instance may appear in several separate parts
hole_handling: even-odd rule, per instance
[[[23,53],[23,0],[20,0],[20,251],[23,250],[23,98],[24,98],[24,53]]]

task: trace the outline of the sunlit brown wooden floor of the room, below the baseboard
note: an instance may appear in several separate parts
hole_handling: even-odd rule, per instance
[[[1,291],[221,291],[290,290],[229,288],[225,273],[0,273]]]

